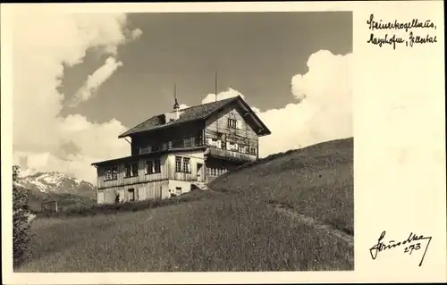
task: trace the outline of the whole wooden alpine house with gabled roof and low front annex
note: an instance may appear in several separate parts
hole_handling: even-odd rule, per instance
[[[141,122],[130,138],[131,155],[92,163],[97,203],[162,199],[202,188],[240,164],[257,160],[258,138],[270,134],[240,97],[180,110]]]

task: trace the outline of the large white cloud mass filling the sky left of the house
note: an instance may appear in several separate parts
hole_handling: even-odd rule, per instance
[[[59,171],[95,182],[90,163],[128,155],[129,144],[117,139],[127,128],[116,120],[62,117],[63,94],[57,87],[63,66],[82,63],[88,49],[113,57],[81,88],[87,90],[80,93],[83,99],[122,64],[114,57],[117,47],[132,39],[125,35],[125,14],[45,13],[23,7],[14,14],[13,25],[14,163],[21,164],[22,173]]]

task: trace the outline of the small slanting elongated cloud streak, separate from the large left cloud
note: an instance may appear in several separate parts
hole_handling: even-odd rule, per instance
[[[74,95],[71,106],[79,105],[81,102],[89,100],[90,96],[97,91],[97,88],[109,79],[118,67],[122,66],[122,62],[118,62],[113,56],[105,60],[104,65],[99,67],[91,75],[84,85],[78,89]]]

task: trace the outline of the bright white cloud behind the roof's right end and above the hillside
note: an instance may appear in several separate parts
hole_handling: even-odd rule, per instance
[[[351,54],[334,55],[320,50],[308,58],[308,72],[291,79],[296,103],[280,109],[253,111],[266,123],[272,134],[259,138],[259,155],[266,156],[292,148],[352,136]],[[229,88],[217,98],[241,96]],[[215,100],[208,94],[202,101]]]

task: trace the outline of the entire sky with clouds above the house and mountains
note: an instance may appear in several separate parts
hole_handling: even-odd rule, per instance
[[[260,156],[352,136],[352,14],[30,13],[14,17],[13,157],[23,175],[96,182],[125,130],[242,96],[272,131]]]

